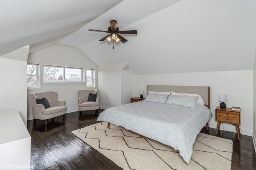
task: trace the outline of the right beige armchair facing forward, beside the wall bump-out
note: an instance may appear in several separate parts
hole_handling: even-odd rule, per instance
[[[89,94],[96,94],[96,101],[88,101]],[[100,97],[97,89],[86,89],[78,90],[78,111],[80,111],[80,116],[82,116],[82,111],[96,110],[95,115],[98,114],[100,109]]]

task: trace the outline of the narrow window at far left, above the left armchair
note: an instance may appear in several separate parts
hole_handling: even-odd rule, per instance
[[[27,64],[27,88],[39,88],[38,64]]]

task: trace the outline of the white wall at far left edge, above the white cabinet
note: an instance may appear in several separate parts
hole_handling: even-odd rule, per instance
[[[17,109],[27,127],[28,47],[0,56],[0,110]]]

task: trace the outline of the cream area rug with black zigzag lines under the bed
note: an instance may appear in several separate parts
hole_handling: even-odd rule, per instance
[[[233,142],[199,133],[190,163],[178,150],[106,122],[72,131],[124,170],[230,170]]]

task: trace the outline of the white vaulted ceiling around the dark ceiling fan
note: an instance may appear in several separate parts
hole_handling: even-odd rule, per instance
[[[110,20],[128,42],[100,42]],[[255,0],[0,0],[0,55],[30,45],[80,50],[132,74],[248,70],[256,49]]]

